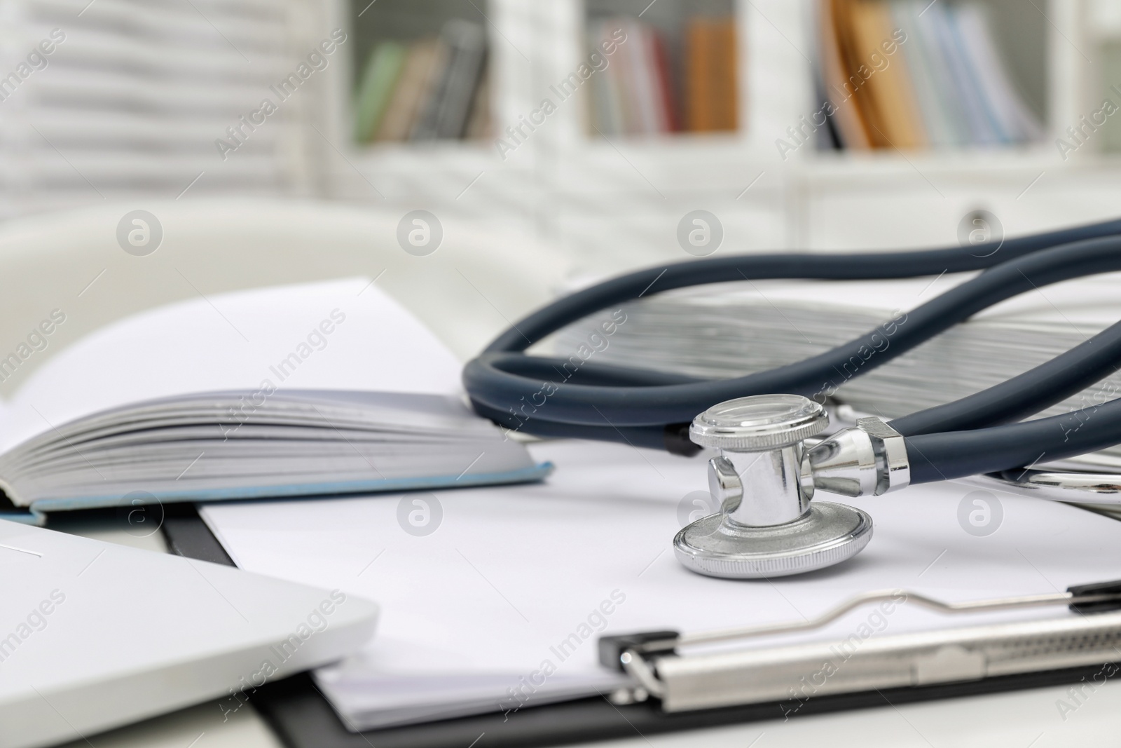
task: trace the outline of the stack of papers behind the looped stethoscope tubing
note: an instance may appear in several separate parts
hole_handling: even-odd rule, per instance
[[[800,361],[893,321],[973,277],[972,274],[891,281],[743,281],[669,292],[623,306],[601,363],[698,377],[739,377]],[[965,397],[1063,353],[1121,320],[1121,274],[1045,286],[1002,302],[904,355],[837,371],[835,399],[895,418]],[[555,336],[566,357],[586,344],[601,316]],[[890,350],[890,335],[884,336]],[[823,386],[825,382],[823,382]],[[826,388],[828,390],[831,388]],[[1114,375],[1044,410],[1056,415],[1113,399]],[[1121,458],[1121,447],[1103,451]],[[1103,458],[1103,464],[1110,464]],[[1113,462],[1112,464],[1115,464]]]

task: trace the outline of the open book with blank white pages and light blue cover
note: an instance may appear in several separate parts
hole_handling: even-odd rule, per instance
[[[61,351],[3,404],[0,516],[546,475],[466,408],[458,371],[363,278],[147,312]]]

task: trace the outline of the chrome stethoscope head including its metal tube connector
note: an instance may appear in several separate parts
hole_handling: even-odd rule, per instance
[[[708,461],[719,514],[674,538],[677,560],[708,576],[757,579],[823,569],[860,553],[872,519],[844,504],[814,501],[816,489],[880,496],[910,481],[904,437],[876,417],[861,418],[814,446],[830,423],[800,395],[758,395],[714,405],[689,438],[720,450]]]

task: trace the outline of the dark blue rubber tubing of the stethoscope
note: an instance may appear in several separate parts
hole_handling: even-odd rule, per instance
[[[524,350],[549,332],[604,306],[651,292],[744,277],[749,279],[886,278],[937,275],[943,270],[961,271],[989,267],[976,278],[908,313],[906,322],[897,325],[893,331],[890,345],[877,351],[864,362],[859,372],[864,373],[999,301],[1059,280],[1121,268],[1121,238],[1118,237],[1092,238],[1059,247],[1048,244],[1072,237],[1100,237],[1118,231],[1121,231],[1121,222],[1114,221],[1009,240],[997,255],[1011,256],[1011,259],[1006,259],[1000,265],[994,262],[997,255],[975,258],[966,255],[964,250],[928,250],[846,256],[747,256],[698,260],[670,266],[660,271],[658,269],[640,271],[560,299],[518,323],[495,340],[480,359],[467,364],[464,370],[464,384],[481,414],[499,422],[504,421],[507,425],[513,427],[511,416],[506,413],[513,414],[518,403],[526,401],[527,395],[539,394],[541,376],[548,376],[549,370],[556,371],[554,367],[564,363],[564,360],[559,359],[529,358],[513,351]],[[1030,446],[1038,446],[1039,450],[1027,458],[1029,461],[1036,460],[1039,453],[1048,454],[1047,459],[1060,459],[1058,453],[1069,456],[1101,449],[1101,446],[1086,447],[1086,444],[1101,443],[1108,446],[1121,441],[1121,427],[1109,428],[1108,423],[1101,423],[1112,418],[1095,417],[1093,421],[1097,423],[1091,423],[1090,416],[1100,414],[1104,407],[1100,404],[1094,404],[1087,409],[1093,410],[1093,414],[1082,413],[1058,417],[1067,419],[1064,423],[1045,418],[1028,424],[997,426],[995,430],[981,428],[972,432],[975,436],[970,440],[963,438],[960,433],[964,428],[992,426],[1030,415],[1112,373],[1121,360],[1117,355],[1121,331],[1117,327],[1114,325],[1087,343],[994,388],[893,422],[892,425],[911,437],[908,440],[909,450],[914,442],[916,468],[912,471],[914,482],[941,480],[979,471],[991,472],[1025,464],[1015,461],[1009,463],[1009,460],[1012,460],[1011,455],[1016,459],[1022,458],[1022,450],[1016,449],[1017,442],[1021,441],[1018,435],[1027,437],[1029,432],[1031,440],[1036,436],[1044,440],[1031,442]],[[594,364],[582,370],[581,378],[599,380],[602,384],[593,386],[565,384],[550,394],[547,405],[534,408],[534,416],[529,421],[525,423],[520,418],[513,421],[530,433],[614,440],[623,436],[626,441],[630,441],[624,436],[624,432],[638,438],[643,436],[645,431],[652,433],[649,428],[651,426],[687,422],[710,405],[732,397],[773,391],[804,395],[819,393],[823,384],[834,378],[833,372],[837,371],[836,367],[853,360],[853,355],[860,355],[862,347],[867,353],[869,347],[874,345],[877,340],[882,342],[884,334],[882,327],[877,329],[855,341],[806,361],[731,380],[691,380],[686,377]],[[873,339],[873,335],[877,339]],[[611,386],[604,386],[608,384]],[[525,417],[524,407],[520,413],[521,417]],[[1068,423],[1072,417],[1078,421],[1076,431],[1072,431],[1072,425]],[[1050,432],[1047,432],[1048,428]],[[949,434],[927,433],[934,430],[953,431]],[[1044,432],[1037,433],[1039,430]],[[1045,433],[1050,433],[1050,437],[1044,438]],[[1076,434],[1076,437],[1072,438],[1072,433]],[[978,453],[974,444],[970,447],[971,459],[964,459],[965,444],[975,442],[982,434],[988,441],[981,446],[986,449]],[[947,438],[951,441],[947,442]],[[651,442],[650,438],[646,440],[649,445],[652,445]],[[953,449],[953,443],[960,444],[961,447]],[[983,459],[985,452],[993,455],[992,461]],[[998,453],[1003,456],[998,459]],[[998,462],[1001,464],[995,464]],[[967,464],[969,468],[958,469],[956,464]]]

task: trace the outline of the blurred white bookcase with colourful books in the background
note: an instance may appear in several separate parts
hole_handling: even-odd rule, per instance
[[[700,207],[721,216],[728,246],[750,251],[934,236],[914,227],[953,242],[973,210],[1022,232],[1111,214],[1121,197],[1111,179],[1121,114],[1080,124],[1103,96],[1121,107],[1110,89],[1121,91],[1115,0],[335,2],[356,43],[333,105],[346,159],[328,191],[465,219],[516,215],[589,262],[677,258],[676,222]],[[489,108],[488,129],[355,139],[377,46],[435,38],[453,20],[485,35],[474,101]],[[626,40],[608,54],[620,29]],[[833,81],[831,45],[847,49]],[[874,73],[847,109],[868,142],[851,117],[847,133],[836,113],[807,127],[830,83],[844,87],[837,71],[860,64]],[[1072,127],[1086,135],[1064,154],[1057,141]]]

